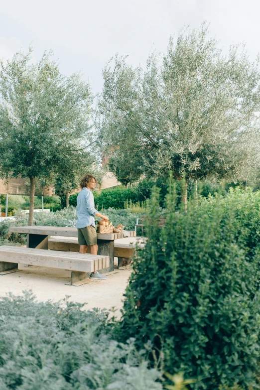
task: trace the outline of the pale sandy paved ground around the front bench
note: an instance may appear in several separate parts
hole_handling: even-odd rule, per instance
[[[70,295],[70,299],[75,302],[87,303],[87,309],[110,309],[114,306],[118,310],[117,316],[120,316],[130,273],[130,268],[116,269],[104,281],[92,280],[75,287],[65,284],[70,279],[69,271],[30,266],[19,272],[0,275],[0,296],[4,296],[6,292],[19,295],[23,290],[32,290],[38,301],[58,301]]]

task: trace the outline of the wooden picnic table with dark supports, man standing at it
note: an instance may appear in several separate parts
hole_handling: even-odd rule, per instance
[[[27,248],[48,250],[49,236],[78,237],[77,228],[60,226],[13,226],[10,233],[27,234]],[[100,273],[114,271],[114,234],[98,233],[98,255],[109,256],[109,267],[101,269]]]

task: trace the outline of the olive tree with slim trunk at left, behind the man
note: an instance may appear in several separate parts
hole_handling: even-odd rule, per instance
[[[30,49],[0,62],[0,174],[30,179],[29,225],[36,178],[54,181],[94,161],[89,84],[62,75],[51,54],[33,64]]]

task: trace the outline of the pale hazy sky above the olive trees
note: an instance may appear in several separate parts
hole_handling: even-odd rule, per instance
[[[0,0],[0,58],[33,45],[33,60],[53,50],[62,73],[82,72],[94,94],[102,68],[119,53],[145,66],[151,50],[165,52],[185,25],[209,23],[225,51],[245,42],[253,61],[260,52],[257,0]]]

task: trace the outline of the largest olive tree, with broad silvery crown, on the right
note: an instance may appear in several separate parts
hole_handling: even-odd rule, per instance
[[[259,165],[259,61],[243,46],[225,56],[207,34],[202,26],[171,38],[145,70],[115,56],[98,104],[107,155],[123,170],[127,157],[139,175],[185,178],[185,204],[189,180],[243,179]]]

